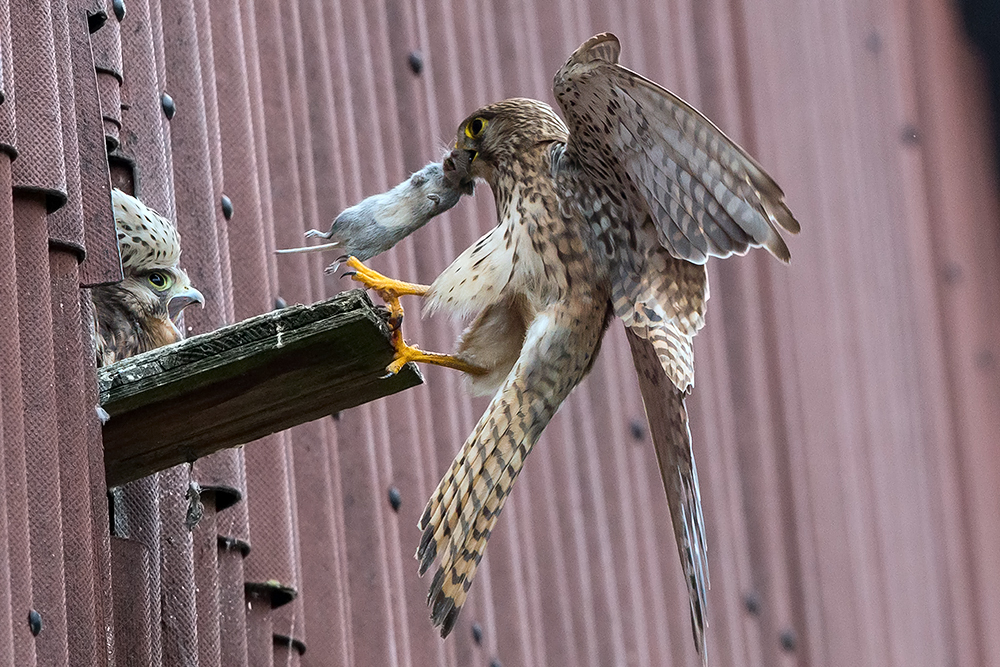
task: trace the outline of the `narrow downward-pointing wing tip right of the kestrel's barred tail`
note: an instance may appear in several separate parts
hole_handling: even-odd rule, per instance
[[[694,643],[702,663],[708,664],[705,646],[707,622],[708,551],[705,546],[705,523],[701,511],[698,470],[691,450],[688,429],[686,392],[679,390],[667,376],[665,362],[657,357],[654,343],[626,330],[632,360],[639,376],[642,402],[646,406],[650,435],[660,464],[660,475],[667,491],[667,504],[677,540],[677,550],[684,569],[691,603],[691,626]]]

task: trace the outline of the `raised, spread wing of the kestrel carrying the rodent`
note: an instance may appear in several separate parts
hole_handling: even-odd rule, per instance
[[[787,262],[778,229],[798,233],[799,223],[774,180],[694,107],[619,65],[620,52],[618,38],[602,33],[556,73],[567,152],[584,169],[621,172],[591,175],[621,184],[630,218],[648,211],[674,257],[703,264],[764,246]]]

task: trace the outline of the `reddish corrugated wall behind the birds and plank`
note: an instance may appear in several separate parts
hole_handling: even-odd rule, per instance
[[[120,275],[106,144],[111,181],[176,218],[208,331],[348,287],[272,250],[474,108],[551,100],[602,30],[803,226],[791,267],[711,269],[691,413],[713,664],[1000,665],[1000,207],[959,25],[947,0],[0,3],[0,667],[697,664],[617,325],[447,641],[411,554],[485,405],[455,373],[133,483],[110,524],[105,500],[77,286]],[[480,188],[374,265],[430,281],[493,223]],[[458,327],[407,319],[430,349]]]

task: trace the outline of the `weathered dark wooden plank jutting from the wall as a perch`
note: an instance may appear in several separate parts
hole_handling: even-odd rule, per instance
[[[362,290],[290,306],[100,369],[108,486],[194,461],[423,380],[392,360]]]

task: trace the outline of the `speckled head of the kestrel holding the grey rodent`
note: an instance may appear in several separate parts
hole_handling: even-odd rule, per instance
[[[566,124],[548,104],[516,97],[485,106],[463,120],[449,158],[462,176],[492,185],[497,168],[509,168],[532,147],[566,141],[568,135]]]

